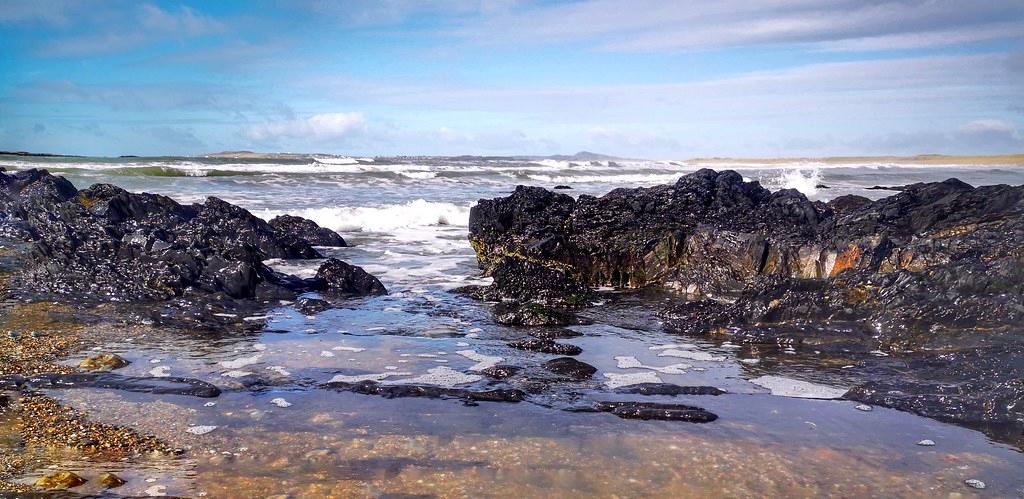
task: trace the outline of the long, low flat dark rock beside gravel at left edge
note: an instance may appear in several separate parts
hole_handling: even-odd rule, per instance
[[[0,389],[67,389],[108,388],[139,393],[173,394],[213,399],[220,396],[220,388],[193,378],[142,378],[120,376],[112,373],[43,373],[32,376],[10,375],[0,377]]]

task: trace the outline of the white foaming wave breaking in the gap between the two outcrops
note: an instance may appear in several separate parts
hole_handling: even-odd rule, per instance
[[[298,215],[338,232],[389,233],[409,227],[468,226],[470,208],[471,205],[418,199],[408,203],[382,206],[263,210],[255,214],[265,219],[286,213]]]

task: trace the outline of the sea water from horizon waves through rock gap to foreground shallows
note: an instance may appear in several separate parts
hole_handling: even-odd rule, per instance
[[[555,356],[507,346],[534,330],[497,325],[490,305],[450,292],[485,282],[466,241],[468,209],[475,200],[507,195],[516,183],[565,183],[573,188],[568,194],[597,195],[673,181],[699,165],[18,159],[0,161],[0,166],[57,167],[79,188],[113,182],[179,201],[218,196],[265,217],[307,216],[338,230],[352,245],[325,248],[326,256],[364,266],[390,291],[311,316],[282,302],[266,315],[247,318],[253,333],[132,328],[96,345],[97,351],[118,352],[132,362],[120,374],[195,377],[225,390],[212,401],[84,388],[52,391],[97,420],[128,424],[190,449],[185,457],[113,464],[72,452],[56,456],[62,469],[83,475],[118,472],[129,481],[118,490],[121,494],[939,497],[978,492],[964,485],[967,479],[988,484],[981,491],[986,496],[1024,494],[1019,472],[1024,455],[1018,450],[911,414],[772,394],[765,386],[773,383],[764,376],[809,382],[810,393],[818,397],[842,391],[844,377],[839,367],[826,376],[803,369],[801,360],[813,352],[668,335],[654,315],[664,296],[604,292],[604,304],[583,314],[589,324],[568,328],[580,336],[558,340],[581,346],[578,359],[598,372],[591,380],[566,381],[541,368]],[[154,166],[165,170],[131,171]],[[851,193],[879,198],[891,193],[865,188],[953,176],[976,184],[1024,183],[1024,169],[1017,166],[733,166],[766,185],[801,189],[821,200]],[[206,176],[196,176],[203,172]],[[270,264],[309,275],[318,262]],[[77,364],[90,352],[68,362]],[[528,376],[508,382],[480,376],[479,364],[493,363],[490,358],[521,366]],[[457,400],[384,399],[321,387],[336,376],[516,387],[529,397],[519,404],[467,406]],[[728,393],[640,397],[610,389],[655,377]],[[276,399],[291,406],[273,404]],[[613,400],[692,405],[719,419],[694,424],[565,411]],[[188,432],[202,426],[216,428]],[[926,439],[937,445],[916,445]]]

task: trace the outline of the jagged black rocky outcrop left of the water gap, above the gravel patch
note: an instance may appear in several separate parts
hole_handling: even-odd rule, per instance
[[[0,211],[10,227],[4,234],[33,243],[12,281],[20,290],[132,302],[386,292],[373,276],[335,259],[311,279],[273,272],[264,260],[321,258],[313,245],[341,238],[298,217],[271,224],[216,198],[181,205],[110,184],[78,191],[45,170],[27,170],[0,173]]]

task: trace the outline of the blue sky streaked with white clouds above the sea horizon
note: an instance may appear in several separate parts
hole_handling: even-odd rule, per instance
[[[0,150],[1024,152],[1021,0],[0,0]]]

